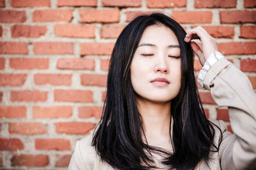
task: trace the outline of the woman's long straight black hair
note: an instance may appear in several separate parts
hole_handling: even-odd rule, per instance
[[[173,152],[143,142],[141,117],[132,89],[130,66],[143,31],[150,25],[172,29],[180,46],[181,87],[172,99],[170,125]],[[155,167],[151,153],[164,155],[163,164],[170,169],[193,169],[200,160],[207,161],[214,145],[214,124],[205,117],[194,74],[194,56],[186,32],[170,17],[161,13],[141,15],[132,20],[116,40],[108,73],[104,110],[93,134],[100,159],[117,169],[150,169]],[[172,132],[171,132],[172,131]],[[211,150],[213,146],[214,150]]]

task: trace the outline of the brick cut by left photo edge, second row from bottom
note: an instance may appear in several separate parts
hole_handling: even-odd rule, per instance
[[[16,138],[0,138],[0,150],[21,150],[23,143]]]

